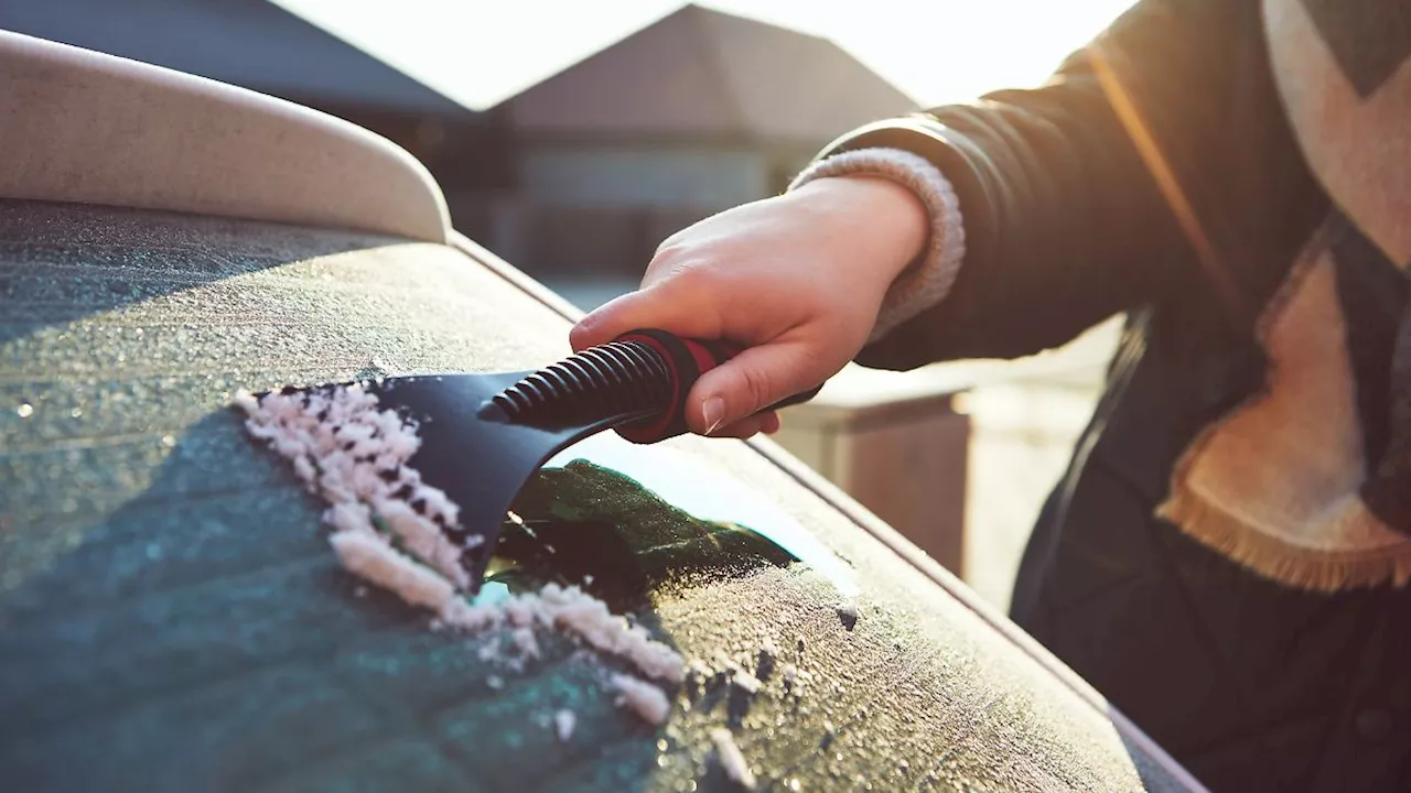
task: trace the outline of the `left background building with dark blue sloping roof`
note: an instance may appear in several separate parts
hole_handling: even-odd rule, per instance
[[[411,151],[447,193],[512,179],[495,113],[464,107],[268,0],[6,0],[0,28],[347,119]]]

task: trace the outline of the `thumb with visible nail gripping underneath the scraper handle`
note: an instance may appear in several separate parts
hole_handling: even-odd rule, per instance
[[[753,416],[834,374],[800,343],[749,347],[703,374],[686,401],[686,423],[700,435]]]

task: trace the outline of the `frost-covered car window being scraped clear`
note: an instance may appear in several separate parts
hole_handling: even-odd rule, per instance
[[[787,521],[711,509],[711,488],[670,481],[594,497],[631,487],[612,471],[648,478],[600,446],[576,453],[611,476],[569,483],[593,470],[556,461],[521,508],[557,529],[539,523],[497,570],[505,586],[593,574],[535,557],[553,555],[555,531],[574,553],[618,543],[632,570],[597,586],[700,672],[652,728],[569,639],[505,673],[396,598],[360,595],[323,505],[229,406],[238,388],[529,368],[560,357],[566,332],[444,246],[0,200],[0,777],[728,789],[711,739],[727,727],[762,786],[1180,789],[1105,713],[741,443],[679,439],[638,464],[694,460]],[[468,450],[474,464],[494,459]],[[656,529],[641,511],[612,516],[653,492]],[[753,531],[722,525],[735,521]],[[731,683],[741,670],[758,690]]]

